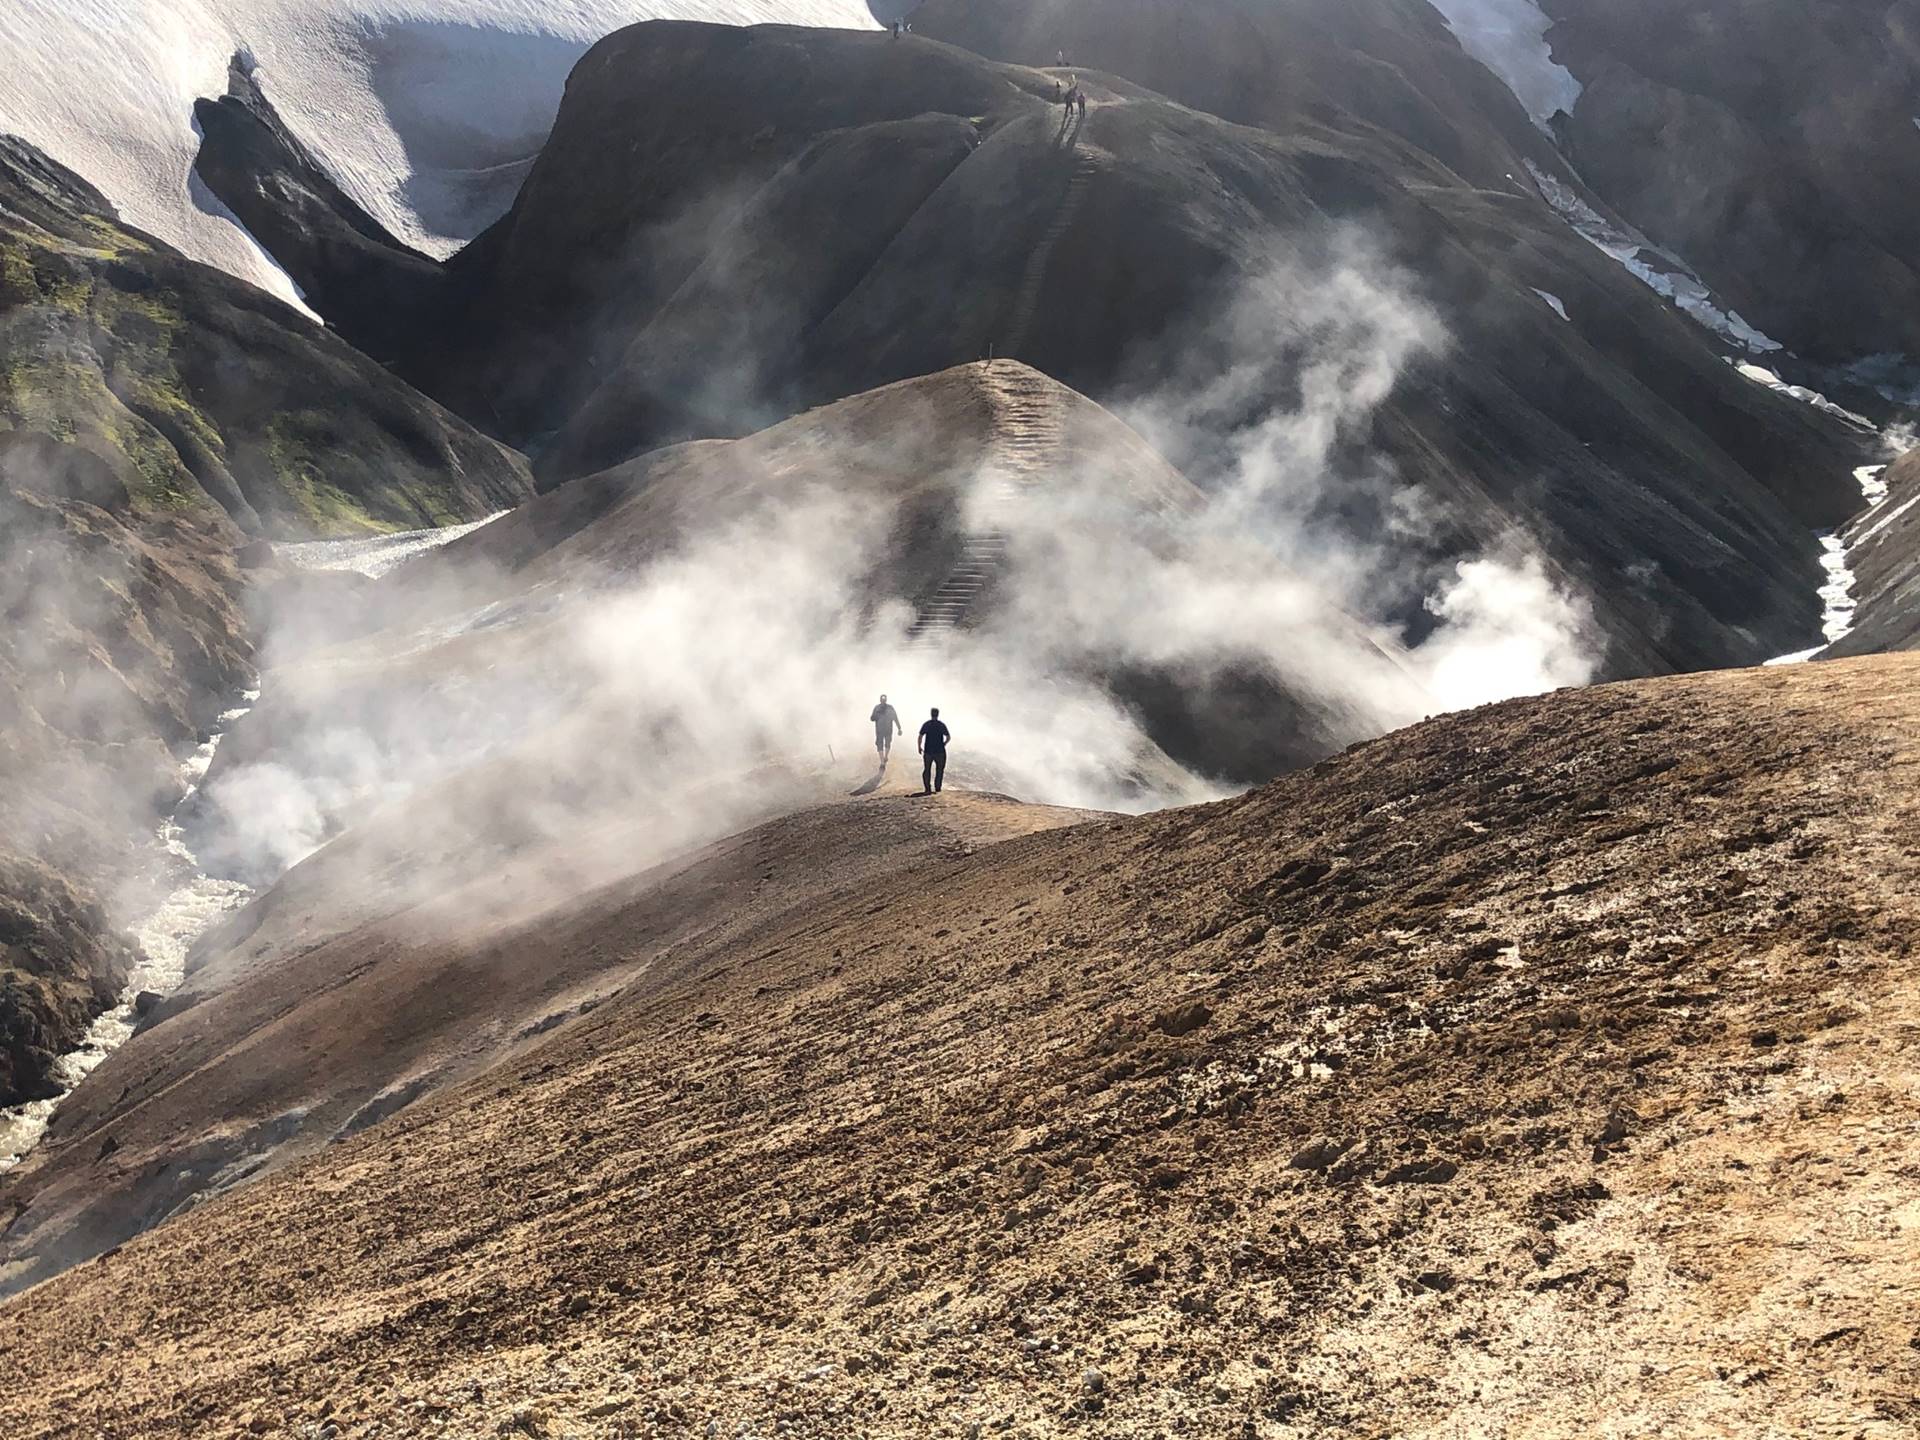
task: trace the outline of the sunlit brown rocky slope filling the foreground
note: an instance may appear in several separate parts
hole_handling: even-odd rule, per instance
[[[732,891],[513,1064],[13,1300],[0,1423],[1910,1434],[1916,701],[1910,657],[1561,693],[758,927]]]

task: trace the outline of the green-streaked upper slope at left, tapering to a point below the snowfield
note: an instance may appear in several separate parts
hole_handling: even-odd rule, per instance
[[[338,336],[117,223],[84,180],[0,142],[0,405],[144,499],[211,499],[252,534],[451,524],[528,493],[516,455]]]

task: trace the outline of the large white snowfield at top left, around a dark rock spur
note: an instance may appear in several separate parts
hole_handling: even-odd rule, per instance
[[[298,301],[188,179],[194,100],[227,92],[236,54],[348,194],[445,255],[513,202],[574,61],[641,19],[874,29],[864,0],[6,0],[0,132],[131,225]]]

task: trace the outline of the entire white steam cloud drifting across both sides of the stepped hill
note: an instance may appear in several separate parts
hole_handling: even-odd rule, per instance
[[[457,854],[476,831],[559,845],[616,816],[632,868],[845,795],[883,689],[910,724],[943,707],[962,783],[1148,808],[1217,795],[1233,764],[1281,753],[1261,732],[1306,758],[1588,680],[1586,607],[1524,538],[1409,576],[1407,541],[1436,516],[1369,426],[1446,336],[1352,236],[1334,252],[1263,269],[1135,386],[1127,419],[1198,497],[1142,507],[1096,453],[1039,476],[981,457],[962,516],[1010,559],[977,624],[916,639],[912,607],[870,584],[895,513],[828,484],[781,482],[637,572],[528,589],[468,566],[455,618],[409,609],[372,647],[403,659],[288,678],[271,753],[209,785],[211,849],[275,874],[371,803],[461,776],[386,812],[382,866]],[[263,716],[273,701],[269,680]],[[428,824],[442,831],[422,843]]]

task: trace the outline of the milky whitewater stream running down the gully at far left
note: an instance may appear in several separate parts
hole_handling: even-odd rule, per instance
[[[148,991],[167,996],[179,989],[186,977],[186,954],[194,948],[194,941],[215,920],[253,899],[253,891],[246,885],[232,879],[215,879],[202,872],[200,860],[186,849],[186,833],[179,824],[179,816],[186,812],[194,795],[200,793],[200,781],[205,780],[213,764],[213,753],[219,749],[227,730],[253,707],[259,691],[248,691],[240,699],[244,705],[227,710],[219,720],[221,728],[207,735],[200,749],[180,766],[180,780],[186,781],[186,793],[180,797],[175,812],[154,833],[159,874],[171,881],[173,889],[146,920],[132,927],[132,937],[140,947],[140,960],[127,977],[121,1002],[92,1023],[79,1050],[69,1050],[54,1066],[54,1079],[60,1083],[58,1096],[52,1100],[33,1100],[13,1110],[0,1110],[0,1173],[27,1158],[52,1123],[60,1102],[102,1060],[132,1037],[134,1021],[138,1020],[134,1002],[140,993]]]

